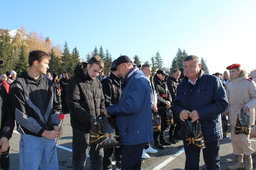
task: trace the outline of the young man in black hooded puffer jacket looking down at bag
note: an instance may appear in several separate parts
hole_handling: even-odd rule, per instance
[[[92,57],[88,63],[80,62],[70,79],[66,101],[70,112],[70,123],[73,128],[73,169],[84,170],[87,155],[90,153],[92,170],[101,169],[103,149],[99,145],[89,146],[90,119],[103,113],[104,96],[102,85],[97,79],[104,67],[102,59]]]

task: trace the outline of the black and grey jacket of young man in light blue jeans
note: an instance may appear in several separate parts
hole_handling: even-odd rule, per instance
[[[44,130],[53,130],[60,123],[55,85],[42,74],[34,80],[22,72],[10,86],[12,111],[20,134],[42,137]]]

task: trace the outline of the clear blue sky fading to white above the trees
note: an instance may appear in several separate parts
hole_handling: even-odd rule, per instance
[[[170,66],[178,47],[203,57],[210,73],[256,67],[256,1],[2,1],[0,28],[24,26],[81,58],[102,45],[142,63],[157,51]]]

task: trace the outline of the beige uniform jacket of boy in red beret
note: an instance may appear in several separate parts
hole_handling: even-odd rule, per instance
[[[235,126],[237,115],[243,106],[249,108],[247,115],[250,115],[250,124],[254,125],[256,107],[256,84],[254,81],[246,80],[245,77],[232,79],[227,84],[227,97],[228,97],[228,118],[230,125]]]

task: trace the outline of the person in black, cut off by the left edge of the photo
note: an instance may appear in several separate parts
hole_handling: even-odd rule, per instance
[[[0,165],[1,169],[9,170],[9,140],[15,126],[14,115],[11,112],[11,102],[5,87],[0,83]]]

